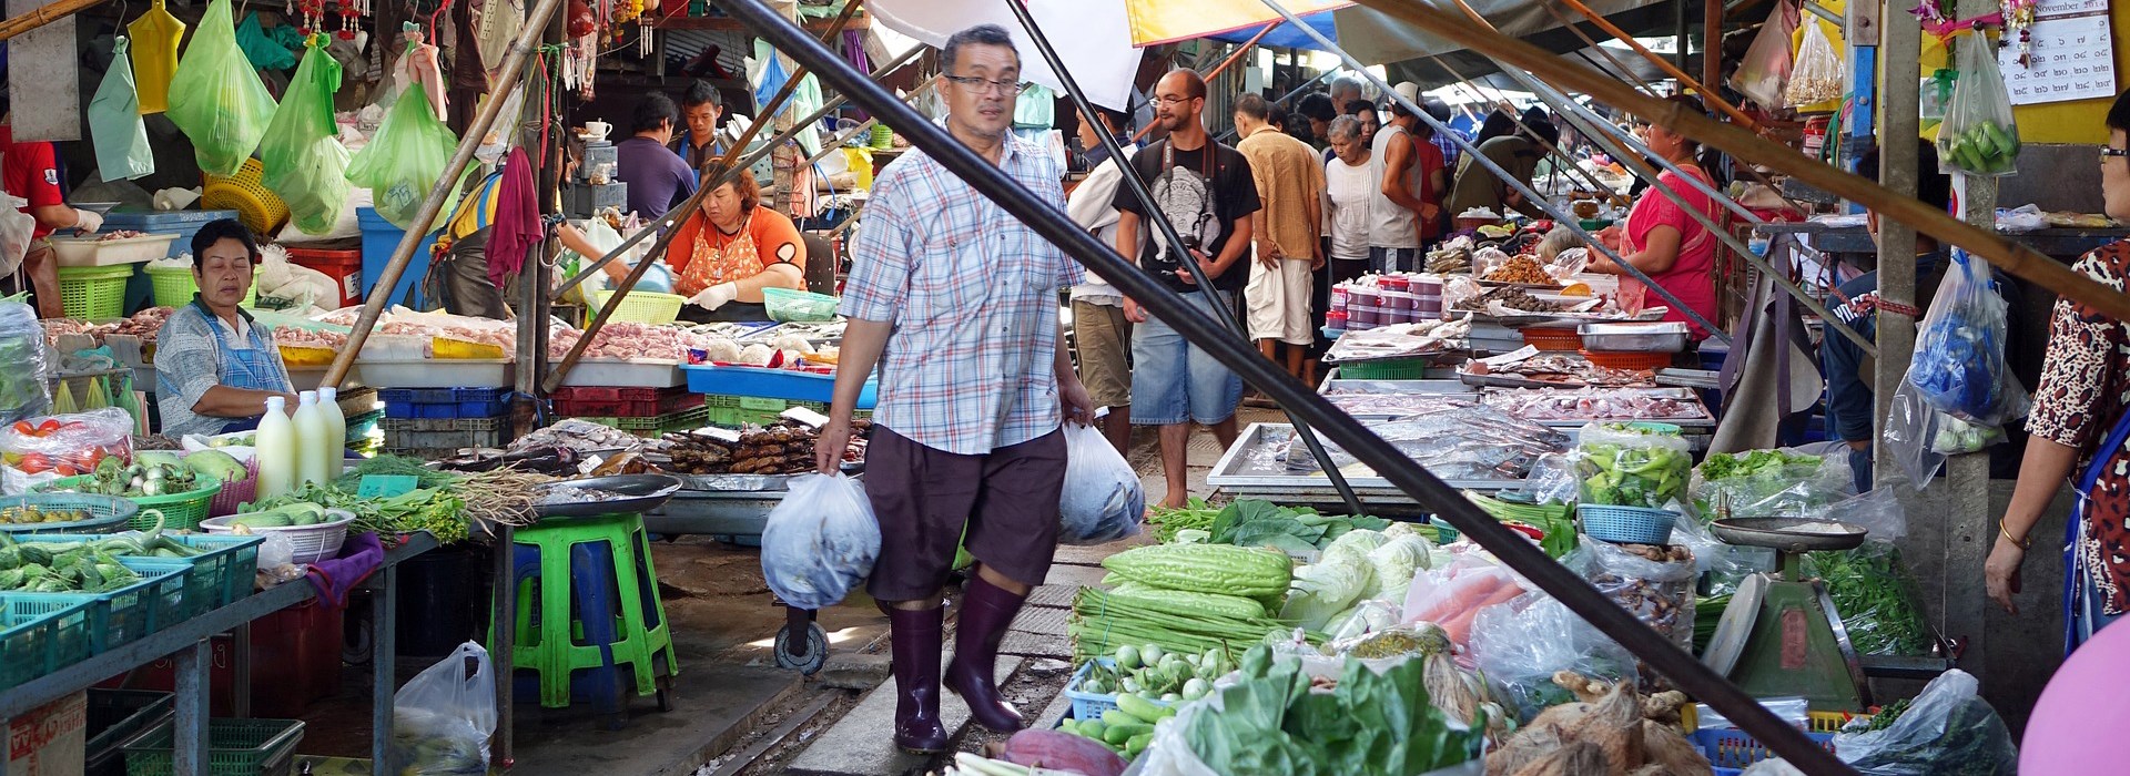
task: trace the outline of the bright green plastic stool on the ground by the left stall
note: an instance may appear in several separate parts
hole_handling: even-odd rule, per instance
[[[658,708],[671,710],[679,663],[643,517],[550,517],[518,529],[513,544],[520,606],[511,659],[539,674],[541,706],[569,706],[579,672],[588,672],[596,710],[622,714],[626,682],[618,676],[626,668],[637,695],[658,695]],[[494,629],[488,640],[494,644]]]

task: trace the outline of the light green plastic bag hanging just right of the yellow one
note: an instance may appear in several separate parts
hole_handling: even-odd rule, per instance
[[[192,138],[200,172],[236,176],[273,121],[273,96],[236,47],[230,0],[213,0],[170,77],[170,123]]]

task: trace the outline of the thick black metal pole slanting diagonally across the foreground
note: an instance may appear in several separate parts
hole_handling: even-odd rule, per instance
[[[769,38],[771,45],[784,49],[801,62],[820,66],[826,81],[850,91],[852,98],[867,111],[882,113],[895,125],[907,125],[905,132],[910,140],[950,172],[1018,217],[1031,230],[1059,244],[1065,253],[1080,259],[1080,264],[1088,270],[1112,279],[1120,291],[1135,300],[1144,300],[1144,304],[1161,313],[1165,321],[1174,319],[1172,325],[1176,325],[1184,338],[1201,344],[1216,359],[1248,374],[1255,383],[1265,385],[1282,406],[1308,417],[1321,434],[1340,442],[1350,455],[1355,455],[1355,459],[1372,466],[1423,506],[1433,508],[1436,514],[1459,527],[1480,546],[1493,551],[1495,557],[1529,578],[1538,589],[1557,597],[1563,606],[1568,606],[1568,610],[1580,614],[1600,631],[1621,642],[1627,651],[1651,663],[1655,672],[1672,678],[1693,697],[1721,710],[1727,719],[1738,723],[1738,727],[1747,733],[1759,738],[1759,742],[1770,746],[1776,755],[1783,755],[1793,765],[1815,774],[1849,772],[1847,765],[1834,759],[1834,755],[1813,744],[1802,731],[1770,714],[1759,706],[1759,702],[1725,682],[1721,676],[1693,659],[1693,655],[1681,651],[1668,636],[1661,636],[1642,621],[1634,619],[1634,614],[1621,610],[1619,604],[1598,593],[1598,589],[1580,576],[1546,557],[1546,553],[1534,546],[1527,538],[1510,532],[1493,517],[1487,517],[1487,512],[1480,512],[1478,506],[1459,495],[1457,489],[1423,470],[1380,436],[1367,432],[1367,427],[1350,415],[1340,412],[1336,406],[1325,402],[1325,398],[1310,393],[1301,383],[1284,378],[1284,372],[1280,372],[1278,366],[1261,357],[1255,349],[1235,342],[1214,321],[1191,313],[1191,306],[1180,296],[1137,272],[1129,262],[1125,262],[1125,257],[1116,255],[1114,249],[1103,247],[1093,234],[1071,223],[1056,202],[1037,200],[1025,187],[999,172],[997,166],[956,142],[946,134],[946,130],[927,123],[920,115],[895,102],[895,98],[880,85],[865,81],[863,72],[839,62],[835,53],[807,38],[803,30],[775,17],[769,9],[746,0],[724,0],[722,4],[733,17],[748,23],[763,38]]]

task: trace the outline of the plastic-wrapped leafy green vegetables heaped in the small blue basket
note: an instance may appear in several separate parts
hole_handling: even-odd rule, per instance
[[[1685,502],[1693,459],[1678,427],[1591,423],[1583,427],[1583,504],[1666,508]]]

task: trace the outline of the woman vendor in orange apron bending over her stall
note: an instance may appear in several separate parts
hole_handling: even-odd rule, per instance
[[[703,168],[703,181],[724,166]],[[673,291],[688,298],[684,321],[767,321],[763,289],[805,289],[805,242],[784,213],[763,206],[763,189],[741,172],[675,227],[667,247]]]

